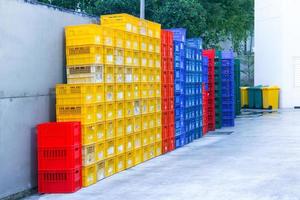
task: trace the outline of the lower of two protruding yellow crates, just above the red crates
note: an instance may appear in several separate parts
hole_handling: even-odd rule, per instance
[[[56,105],[58,122],[80,121],[82,125],[95,123],[95,106],[88,105]]]

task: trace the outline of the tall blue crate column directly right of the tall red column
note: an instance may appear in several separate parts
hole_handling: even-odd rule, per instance
[[[185,40],[186,29],[170,29],[174,41],[175,148],[185,145]]]

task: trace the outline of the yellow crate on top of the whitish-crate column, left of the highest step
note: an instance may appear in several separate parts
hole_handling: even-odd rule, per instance
[[[81,24],[65,27],[66,46],[102,45],[102,27],[97,24]]]

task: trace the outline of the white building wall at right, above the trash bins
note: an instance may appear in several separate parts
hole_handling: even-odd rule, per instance
[[[284,108],[300,105],[294,69],[300,65],[299,9],[296,0],[255,1],[255,84],[280,86]]]

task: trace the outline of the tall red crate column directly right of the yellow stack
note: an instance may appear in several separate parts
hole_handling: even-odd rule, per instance
[[[173,32],[161,31],[162,151],[175,148]]]

